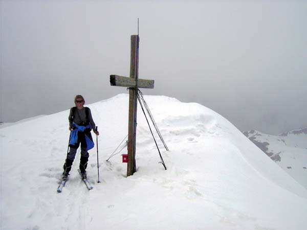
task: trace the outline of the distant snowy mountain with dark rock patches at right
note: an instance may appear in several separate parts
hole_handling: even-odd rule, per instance
[[[307,128],[278,136],[256,130],[245,131],[244,134],[307,189]]]

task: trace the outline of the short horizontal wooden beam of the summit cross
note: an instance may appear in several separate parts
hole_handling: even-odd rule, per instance
[[[128,78],[119,75],[110,75],[110,83],[115,86],[135,88],[137,85],[136,78]],[[138,88],[153,88],[155,80],[138,79]]]

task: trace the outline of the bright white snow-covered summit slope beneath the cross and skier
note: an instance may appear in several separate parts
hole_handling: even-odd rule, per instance
[[[196,103],[145,96],[169,152],[138,109],[137,169],[105,159],[127,133],[128,95],[88,105],[99,127],[87,191],[76,156],[62,193],[69,110],[1,129],[1,229],[305,229],[307,191],[244,134]],[[78,153],[80,154],[80,153]]]

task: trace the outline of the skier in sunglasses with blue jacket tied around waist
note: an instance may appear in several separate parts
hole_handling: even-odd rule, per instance
[[[91,130],[93,129],[96,135],[99,132],[96,130],[95,122],[92,118],[91,109],[84,107],[85,100],[81,95],[75,97],[75,107],[72,107],[69,114],[69,130],[70,151],[67,153],[67,158],[63,166],[64,172],[62,174],[63,179],[67,179],[71,167],[73,165],[77,149],[81,144],[81,157],[79,169],[84,178],[86,178],[86,167],[87,161],[89,160],[88,150],[94,147],[94,142],[91,135]]]

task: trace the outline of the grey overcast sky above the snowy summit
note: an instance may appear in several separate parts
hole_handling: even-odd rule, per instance
[[[109,75],[129,75],[137,18],[139,77],[155,80],[144,94],[241,131],[307,126],[307,1],[1,0],[1,121],[127,93]]]

